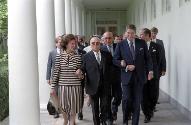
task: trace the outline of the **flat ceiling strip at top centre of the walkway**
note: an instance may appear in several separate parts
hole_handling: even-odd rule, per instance
[[[126,10],[131,0],[82,0],[87,9],[92,10]]]

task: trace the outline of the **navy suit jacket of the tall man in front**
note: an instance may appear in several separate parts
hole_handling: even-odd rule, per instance
[[[122,85],[128,85],[133,72],[126,72],[125,67],[121,67],[121,60],[125,60],[127,65],[135,65],[135,71],[133,72],[135,72],[136,78],[139,80],[139,82],[146,83],[146,72],[152,71],[153,65],[145,41],[137,38],[135,39],[135,60],[133,60],[127,40],[123,40],[118,43],[115,49],[113,63],[122,69]]]

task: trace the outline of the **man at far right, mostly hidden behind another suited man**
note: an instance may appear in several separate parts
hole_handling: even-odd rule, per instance
[[[164,76],[166,74],[166,57],[165,57],[165,48],[164,48],[163,41],[156,38],[157,34],[158,34],[158,29],[156,27],[153,27],[151,29],[152,41],[161,46],[162,60],[161,60],[160,67],[159,67],[159,72],[160,72],[160,77],[161,77],[161,76]],[[155,97],[155,103],[156,104],[158,103],[158,98],[159,98],[159,81],[160,81],[160,78],[156,82],[156,88],[157,88],[157,90],[155,92],[156,93],[155,94],[156,95],[156,97]]]

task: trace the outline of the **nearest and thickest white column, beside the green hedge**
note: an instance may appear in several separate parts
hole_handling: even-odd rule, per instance
[[[35,0],[8,0],[9,125],[40,125]]]

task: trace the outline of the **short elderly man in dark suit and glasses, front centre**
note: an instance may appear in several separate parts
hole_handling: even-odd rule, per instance
[[[82,63],[82,71],[86,74],[87,80],[85,89],[92,106],[94,125],[100,125],[100,120],[102,125],[108,125],[112,57],[109,53],[100,50],[98,37],[91,38],[90,46],[92,51],[84,55]]]

